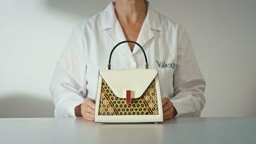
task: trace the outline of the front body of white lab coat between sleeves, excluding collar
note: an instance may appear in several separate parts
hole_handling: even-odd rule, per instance
[[[173,96],[174,71],[177,61],[177,24],[164,16],[161,18],[161,31],[154,30],[143,24],[137,43],[146,52],[149,68],[159,72],[161,96]],[[87,96],[96,99],[98,73],[107,69],[110,52],[114,45],[125,40],[122,28],[116,21],[114,28],[101,28],[102,13],[83,23],[86,57],[86,89]],[[124,43],[114,50],[111,60],[112,69],[145,68],[145,59],[138,46],[131,51]]]

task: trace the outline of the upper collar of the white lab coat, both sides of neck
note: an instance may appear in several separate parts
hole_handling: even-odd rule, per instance
[[[149,4],[149,1],[146,1],[146,4],[148,6],[148,11],[145,19],[146,24],[151,29],[154,29],[157,31],[163,30],[158,11],[156,11],[151,6],[151,4]],[[106,7],[106,9],[102,13],[101,29],[107,30],[109,28],[114,28],[114,23],[116,21],[117,21],[117,16],[114,12],[114,2],[110,2],[110,4]]]

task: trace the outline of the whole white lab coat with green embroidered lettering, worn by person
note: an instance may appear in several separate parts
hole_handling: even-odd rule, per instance
[[[85,97],[96,99],[98,70],[107,69],[110,51],[122,40],[126,38],[112,2],[73,29],[50,84],[55,117],[75,117],[75,106]],[[177,116],[200,116],[206,82],[184,28],[148,4],[137,43],[146,52],[149,68],[159,70],[161,96],[171,99]],[[144,68],[144,64],[137,46],[131,51],[125,43],[113,52],[112,69]]]

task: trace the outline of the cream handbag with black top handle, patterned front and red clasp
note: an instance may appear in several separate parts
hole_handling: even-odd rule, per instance
[[[111,70],[112,53],[122,43],[134,43],[142,49],[145,69]],[[108,70],[100,70],[95,122],[100,123],[141,123],[162,122],[163,110],[159,74],[157,69],[149,69],[146,53],[134,41],[122,41],[110,52]]]

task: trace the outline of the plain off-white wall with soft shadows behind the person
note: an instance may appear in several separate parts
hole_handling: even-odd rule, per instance
[[[48,85],[76,23],[110,0],[0,0],[0,117],[53,116]],[[256,1],[151,0],[181,23],[206,82],[202,116],[256,116]]]

